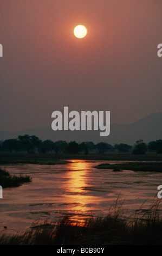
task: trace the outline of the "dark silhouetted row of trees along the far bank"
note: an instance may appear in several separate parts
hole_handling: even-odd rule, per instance
[[[145,154],[146,151],[155,151],[158,154],[162,153],[162,140],[151,141],[148,144],[144,143],[142,139],[139,139],[133,146],[126,143],[116,143],[112,146],[106,142],[99,142],[94,144],[93,142],[81,142],[75,141],[56,141],[53,142],[49,139],[42,141],[36,136],[23,135],[18,136],[16,139],[6,139],[1,142],[0,151],[14,152],[38,152],[38,153],[84,153],[96,152],[103,154],[106,152],[119,152],[132,154]]]

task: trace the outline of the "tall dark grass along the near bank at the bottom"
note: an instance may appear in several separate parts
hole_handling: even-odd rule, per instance
[[[35,224],[22,235],[1,235],[0,245],[162,245],[160,200],[142,207],[135,216],[124,217],[117,199],[106,217],[90,217],[82,224],[68,216],[57,222]]]

